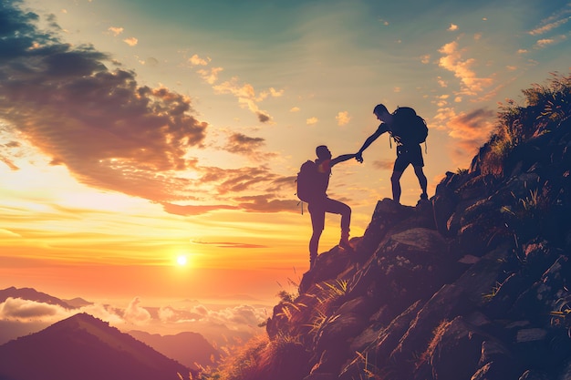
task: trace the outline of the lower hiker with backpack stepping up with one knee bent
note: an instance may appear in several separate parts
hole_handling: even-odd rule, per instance
[[[354,154],[344,154],[331,159],[331,152],[325,145],[316,149],[317,159],[307,160],[297,174],[297,197],[307,203],[311,215],[313,233],[309,240],[309,269],[312,269],[317,259],[317,248],[321,232],[325,229],[325,213],[341,215],[341,240],[339,247],[352,251],[349,243],[349,225],[351,223],[351,208],[347,204],[327,197],[331,168],[339,162],[355,158]]]

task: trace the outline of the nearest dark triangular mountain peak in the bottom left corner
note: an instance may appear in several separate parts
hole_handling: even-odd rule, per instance
[[[97,360],[94,360],[97,358]],[[0,346],[10,380],[180,380],[190,370],[88,313],[78,313]]]

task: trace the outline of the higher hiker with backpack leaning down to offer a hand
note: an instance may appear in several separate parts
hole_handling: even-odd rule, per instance
[[[400,177],[404,169],[412,164],[414,173],[419,179],[420,190],[422,190],[420,200],[428,200],[427,180],[422,170],[424,159],[422,159],[422,149],[420,148],[420,144],[426,140],[428,135],[428,128],[424,119],[416,115],[414,109],[408,107],[397,108],[390,114],[384,105],[379,104],[373,109],[373,113],[381,123],[375,133],[365,140],[361,149],[358,149],[355,159],[363,162],[363,151],[380,135],[389,132],[390,137],[397,143],[397,159],[390,176],[392,199],[400,203]]]

